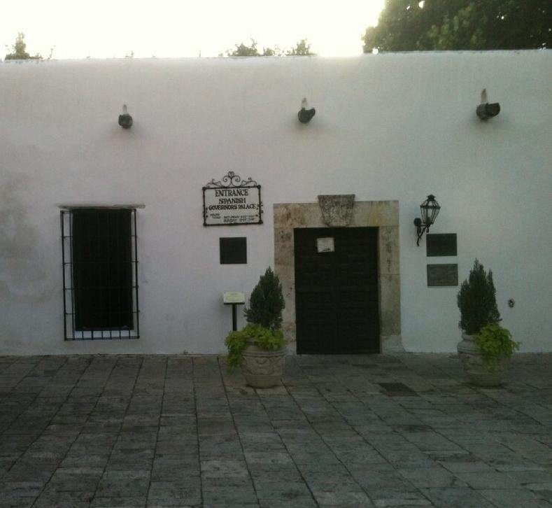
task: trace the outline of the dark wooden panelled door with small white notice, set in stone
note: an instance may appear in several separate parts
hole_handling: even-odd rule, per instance
[[[376,227],[295,229],[297,353],[379,353],[377,241]]]

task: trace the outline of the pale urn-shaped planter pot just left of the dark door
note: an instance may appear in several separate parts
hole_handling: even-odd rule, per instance
[[[270,351],[257,346],[247,346],[243,350],[241,372],[246,382],[253,388],[276,386],[282,377],[287,348]]]

